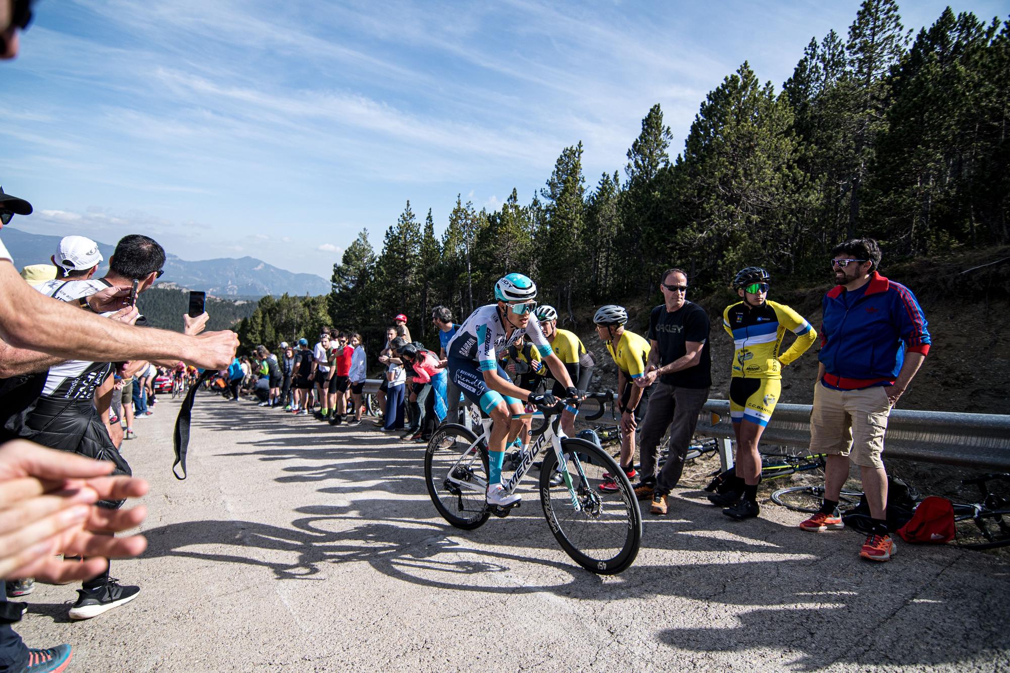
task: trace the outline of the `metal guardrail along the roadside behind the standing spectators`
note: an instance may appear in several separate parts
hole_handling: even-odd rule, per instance
[[[379,391],[379,379],[365,382],[365,392]],[[762,435],[762,444],[810,446],[809,404],[779,404]],[[712,414],[717,418],[713,418]],[[699,435],[733,439],[729,400],[710,399],[698,419]],[[888,420],[885,456],[905,460],[1010,470],[1010,415],[895,409]],[[724,443],[724,467],[728,446]]]

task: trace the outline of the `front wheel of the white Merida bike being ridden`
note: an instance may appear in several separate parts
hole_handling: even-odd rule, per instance
[[[554,452],[548,450],[540,467],[543,515],[562,549],[576,563],[594,573],[616,575],[634,562],[641,544],[641,512],[631,482],[595,444],[565,439],[562,453],[572,490],[564,482],[551,485],[560,468]],[[613,479],[605,479],[605,473]]]

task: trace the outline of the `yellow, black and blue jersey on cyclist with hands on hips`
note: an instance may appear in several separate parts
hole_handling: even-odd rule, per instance
[[[747,306],[742,301],[726,306],[722,326],[736,346],[733,377],[781,379],[782,368],[799,358],[817,339],[817,330],[789,306],[766,301]],[[796,334],[793,345],[779,355],[789,329]]]

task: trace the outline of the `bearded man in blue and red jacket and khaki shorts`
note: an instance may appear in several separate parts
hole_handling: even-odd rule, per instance
[[[929,331],[911,290],[878,273],[881,249],[876,241],[846,241],[831,255],[835,287],[823,300],[820,367],[810,414],[810,451],[828,454],[824,502],[800,527],[811,533],[844,527],[838,494],[851,461],[860,466],[873,519],[860,556],[888,561],[895,545],[887,526],[884,434],[891,409],[929,352]]]

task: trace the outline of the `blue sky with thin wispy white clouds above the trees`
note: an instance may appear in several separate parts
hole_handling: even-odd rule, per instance
[[[158,238],[183,259],[329,277],[407,199],[528,203],[582,140],[587,183],[660,103],[683,148],[744,60],[778,89],[858,2],[43,0],[0,64],[0,184],[25,230]],[[906,0],[906,27],[944,2]],[[952,5],[985,20],[1004,2]]]

